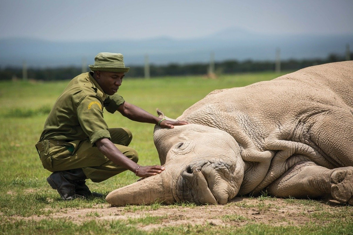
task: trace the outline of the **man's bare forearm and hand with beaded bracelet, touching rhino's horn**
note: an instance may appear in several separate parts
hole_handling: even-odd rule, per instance
[[[133,173],[136,173],[139,177],[148,177],[151,175],[156,175],[164,171],[162,166],[140,166],[116,148],[112,141],[108,138],[102,138],[95,142],[97,148],[101,153],[103,153],[108,159],[114,162],[116,165],[122,166]],[[140,167],[139,167],[140,166]],[[139,167],[139,168],[138,168]]]

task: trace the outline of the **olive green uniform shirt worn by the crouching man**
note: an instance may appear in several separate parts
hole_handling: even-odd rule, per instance
[[[107,95],[91,73],[72,79],[56,100],[44,124],[40,141],[84,140],[94,144],[109,138],[108,126],[103,119],[103,107],[114,113],[125,100],[118,94]]]

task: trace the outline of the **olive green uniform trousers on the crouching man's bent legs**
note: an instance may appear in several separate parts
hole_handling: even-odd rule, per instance
[[[138,154],[127,147],[131,140],[131,131],[126,128],[109,128],[111,141],[126,157],[138,161]],[[62,146],[54,146],[40,152],[43,167],[48,171],[66,171],[82,168],[84,174],[93,182],[101,182],[116,174],[126,171],[110,161],[97,147],[92,147],[88,140],[72,141]]]

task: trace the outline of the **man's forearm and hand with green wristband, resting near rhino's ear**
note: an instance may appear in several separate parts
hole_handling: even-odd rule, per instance
[[[128,119],[131,119],[136,122],[145,122],[145,123],[152,123],[152,124],[158,124],[162,118],[156,117],[152,115],[151,113],[141,109],[140,107],[137,107],[136,105],[127,103],[126,101],[121,104],[118,107],[118,111],[124,116],[127,117]],[[160,126],[162,128],[174,128],[174,126],[180,126],[180,125],[185,125],[188,124],[185,121],[170,121],[170,120],[163,120],[160,123]]]

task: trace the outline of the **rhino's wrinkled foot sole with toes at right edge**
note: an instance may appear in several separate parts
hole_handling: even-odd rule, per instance
[[[331,196],[341,203],[353,205],[353,167],[337,168],[330,181]]]

